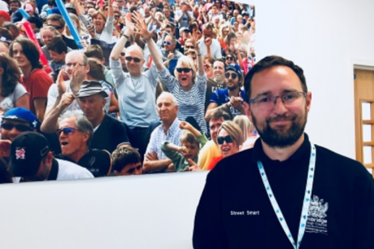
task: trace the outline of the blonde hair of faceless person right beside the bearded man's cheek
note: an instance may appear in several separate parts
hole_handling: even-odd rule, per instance
[[[235,124],[239,125],[243,132],[243,143],[240,146],[240,150],[246,150],[253,148],[254,143],[257,140],[255,125],[249,120],[246,115],[238,115],[232,120]]]

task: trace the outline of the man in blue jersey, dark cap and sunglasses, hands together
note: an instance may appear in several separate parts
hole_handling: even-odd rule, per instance
[[[245,114],[243,97],[245,91],[241,89],[242,70],[237,64],[229,64],[225,69],[226,88],[217,89],[210,96],[210,104],[206,110],[206,119],[216,108],[227,108],[233,117]]]

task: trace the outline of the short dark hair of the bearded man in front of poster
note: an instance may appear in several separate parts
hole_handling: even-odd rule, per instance
[[[300,79],[302,91],[308,92],[308,87],[306,86],[306,80],[302,68],[300,68],[298,65],[295,65],[293,61],[287,60],[281,56],[271,55],[266,56],[265,58],[257,62],[245,76],[244,89],[246,93],[247,102],[251,98],[251,84],[254,74],[275,66],[285,66],[292,69],[292,71],[294,71]]]

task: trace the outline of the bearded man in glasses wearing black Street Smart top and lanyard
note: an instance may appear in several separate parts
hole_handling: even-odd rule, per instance
[[[374,248],[373,177],[309,141],[312,93],[303,70],[267,56],[246,75],[245,92],[260,139],[208,174],[194,248]]]

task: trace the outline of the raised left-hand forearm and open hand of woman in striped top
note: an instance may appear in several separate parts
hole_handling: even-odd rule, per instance
[[[150,49],[150,54],[152,55],[153,63],[156,65],[158,71],[161,71],[164,68],[164,64],[162,63],[162,58],[157,53],[157,46],[154,40],[152,39],[152,34],[154,30],[151,32],[147,29],[147,24],[142,15],[137,12],[132,13],[133,20],[135,21],[135,27],[137,29],[136,34],[144,37],[148,44],[148,48]],[[204,71],[204,69],[203,69]]]

